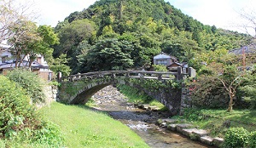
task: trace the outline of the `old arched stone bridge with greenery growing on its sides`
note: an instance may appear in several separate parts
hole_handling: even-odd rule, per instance
[[[189,68],[188,73],[183,73],[182,68],[178,67],[177,72],[95,71],[76,74],[60,78],[58,101],[84,105],[102,88],[108,85],[125,84],[159,100],[173,115],[177,115],[183,111],[183,108],[189,107],[189,93],[182,84],[185,77],[195,77],[195,70]],[[173,82],[179,83],[179,86],[173,87]]]

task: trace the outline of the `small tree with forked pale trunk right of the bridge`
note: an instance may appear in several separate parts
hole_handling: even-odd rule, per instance
[[[205,63],[201,67],[198,83],[195,83],[196,90],[201,90],[201,94],[208,94],[212,88],[224,88],[224,92],[229,94],[229,105],[227,111],[233,110],[236,91],[244,80],[245,71],[239,67],[241,62],[236,56],[230,54],[223,55],[222,59],[215,59],[211,63]],[[210,83],[210,85],[209,85]]]

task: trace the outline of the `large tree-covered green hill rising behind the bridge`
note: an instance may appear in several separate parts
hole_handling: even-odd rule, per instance
[[[209,18],[214,19],[214,18]],[[55,26],[72,73],[148,68],[161,51],[189,61],[196,53],[230,50],[251,37],[203,25],[164,0],[100,0]]]

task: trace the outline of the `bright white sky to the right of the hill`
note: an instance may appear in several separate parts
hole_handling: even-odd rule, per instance
[[[233,31],[241,31],[237,28],[242,21],[239,13],[241,9],[255,9],[255,0],[167,0],[175,8],[192,16],[201,23],[217,26]]]

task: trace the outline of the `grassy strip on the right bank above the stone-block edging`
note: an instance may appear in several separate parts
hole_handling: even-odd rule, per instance
[[[224,137],[229,127],[224,126],[224,122],[230,121],[230,128],[243,127],[247,131],[256,131],[256,111],[255,110],[207,110],[188,109],[183,117],[173,117],[185,119],[197,128],[204,128],[211,132],[212,136]]]

